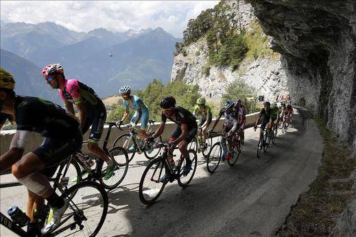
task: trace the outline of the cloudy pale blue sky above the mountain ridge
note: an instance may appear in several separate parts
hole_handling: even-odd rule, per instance
[[[0,1],[4,23],[51,21],[77,32],[162,27],[182,37],[187,22],[219,1]]]

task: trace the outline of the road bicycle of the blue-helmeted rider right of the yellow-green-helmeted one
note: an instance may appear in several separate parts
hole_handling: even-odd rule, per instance
[[[208,155],[208,159],[206,160],[206,168],[209,173],[214,173],[219,166],[220,161],[223,159],[223,151],[224,147],[226,148],[226,134],[224,132],[210,132],[209,135],[219,136],[219,141],[215,142],[213,147],[211,147]],[[223,139],[224,138],[224,139]],[[240,141],[238,134],[234,134],[233,138],[231,138],[231,142],[233,143],[233,149],[231,158],[228,159],[228,164],[233,166],[237,160],[239,159],[239,155],[241,153]],[[227,148],[226,148],[227,150]]]

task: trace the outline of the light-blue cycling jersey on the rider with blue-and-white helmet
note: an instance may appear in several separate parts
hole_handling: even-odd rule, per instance
[[[130,104],[128,103],[128,101],[123,100],[122,101],[123,105],[125,105],[126,110],[129,110],[131,108]],[[143,103],[142,99],[136,95],[132,95],[131,96],[131,104],[133,106],[133,110],[135,110],[134,116],[132,116],[131,118],[131,123],[135,123],[137,120],[137,117],[139,116],[139,109],[141,108],[141,118],[140,118],[140,122],[141,122],[141,130],[145,130],[147,129],[147,125],[148,125],[148,116],[149,116],[149,112],[148,112],[148,107],[147,105],[145,105],[145,103]]]

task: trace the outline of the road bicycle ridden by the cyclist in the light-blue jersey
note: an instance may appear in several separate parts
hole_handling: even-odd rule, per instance
[[[154,125],[154,120],[148,121],[148,127],[147,127],[147,133],[151,136],[154,134],[152,132],[152,127],[151,125]],[[119,129],[121,129],[122,123],[119,124]],[[134,129],[132,125],[127,124],[129,128],[129,133],[128,134],[123,134],[119,136],[115,142],[113,143],[112,147],[123,147],[123,149],[126,149],[126,151],[129,154],[129,159],[128,162],[131,162],[131,160],[134,158],[134,155],[136,153],[144,153],[145,157],[148,160],[152,160],[156,158],[158,153],[161,151],[161,147],[157,146],[159,142],[162,142],[162,137],[159,136],[150,144],[150,147],[147,146],[147,142],[142,138],[139,138],[137,134],[139,134],[139,131],[137,129]],[[122,131],[123,129],[121,129]]]

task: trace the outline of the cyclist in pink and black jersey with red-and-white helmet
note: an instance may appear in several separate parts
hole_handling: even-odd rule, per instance
[[[73,103],[75,104],[79,111],[82,133],[85,134],[91,127],[88,150],[108,164],[104,179],[109,179],[115,170],[115,164],[97,144],[102,136],[106,120],[104,103],[92,88],[79,82],[78,79],[66,79],[64,77],[64,69],[60,64],[45,66],[42,70],[42,75],[51,88],[58,89],[59,95],[64,101],[64,106],[72,114],[75,114]]]

